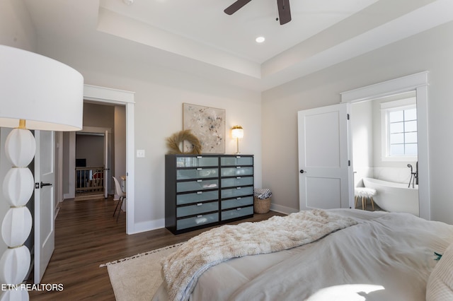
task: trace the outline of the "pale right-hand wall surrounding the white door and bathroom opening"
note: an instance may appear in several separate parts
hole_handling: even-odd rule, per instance
[[[431,218],[453,223],[452,32],[453,23],[440,25],[263,93],[263,186],[273,188],[273,202],[299,208],[298,110],[337,104],[344,91],[426,70]]]

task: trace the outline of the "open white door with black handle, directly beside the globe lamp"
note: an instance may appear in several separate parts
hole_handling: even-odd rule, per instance
[[[35,283],[55,248],[55,132],[35,131]]]

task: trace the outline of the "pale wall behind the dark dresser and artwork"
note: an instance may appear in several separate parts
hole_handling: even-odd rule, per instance
[[[226,110],[226,153],[236,151],[229,129],[235,124],[243,126],[241,153],[255,155],[255,184],[261,186],[260,93],[147,65],[146,61],[134,61],[134,57],[129,61],[114,60],[115,49],[105,53],[86,48],[89,45],[80,47],[70,41],[38,42],[41,54],[72,66],[82,73],[86,84],[135,93],[135,149],[144,150],[146,157],[135,158],[134,228],[164,226],[166,138],[183,129],[183,102]]]

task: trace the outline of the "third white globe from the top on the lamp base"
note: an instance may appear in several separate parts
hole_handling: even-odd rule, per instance
[[[31,213],[27,207],[9,208],[1,223],[1,237],[9,247],[20,246],[30,235]],[[6,282],[15,283],[15,282]]]

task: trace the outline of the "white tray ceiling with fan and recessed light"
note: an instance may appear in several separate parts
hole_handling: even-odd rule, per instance
[[[25,0],[38,37],[267,90],[453,20],[451,0]],[[265,37],[258,44],[255,39]]]

